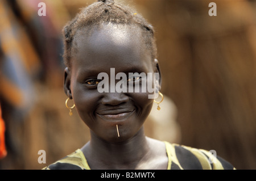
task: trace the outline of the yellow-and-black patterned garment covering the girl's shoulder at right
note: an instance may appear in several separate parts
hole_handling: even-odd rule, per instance
[[[166,142],[168,157],[171,157],[171,169],[204,169],[233,170],[235,169],[225,159],[212,151],[196,149],[189,146],[170,144]]]

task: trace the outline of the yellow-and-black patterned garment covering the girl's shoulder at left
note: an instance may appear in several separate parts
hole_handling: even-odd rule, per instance
[[[43,170],[85,170],[85,158],[80,149],[44,167]]]

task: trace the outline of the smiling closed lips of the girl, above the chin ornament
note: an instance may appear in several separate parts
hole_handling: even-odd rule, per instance
[[[97,111],[97,115],[104,120],[125,120],[134,112],[134,108],[116,108]]]

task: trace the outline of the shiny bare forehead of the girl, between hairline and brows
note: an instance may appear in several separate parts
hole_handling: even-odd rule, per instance
[[[148,66],[151,52],[137,26],[104,24],[100,28],[82,28],[75,35],[76,53],[72,64],[118,68],[125,66]]]

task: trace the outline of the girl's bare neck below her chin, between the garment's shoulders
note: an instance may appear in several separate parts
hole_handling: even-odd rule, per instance
[[[91,169],[136,169],[149,150],[143,128],[129,140],[115,143],[91,132],[91,140],[82,148]]]

